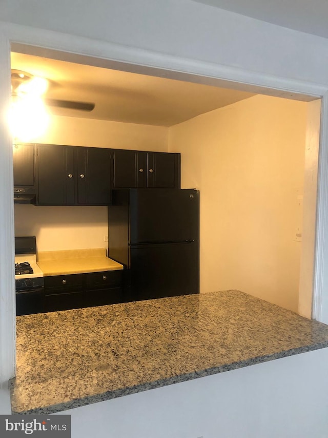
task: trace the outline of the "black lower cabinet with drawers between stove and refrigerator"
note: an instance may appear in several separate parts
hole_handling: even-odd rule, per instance
[[[45,312],[122,301],[122,271],[45,277]]]

